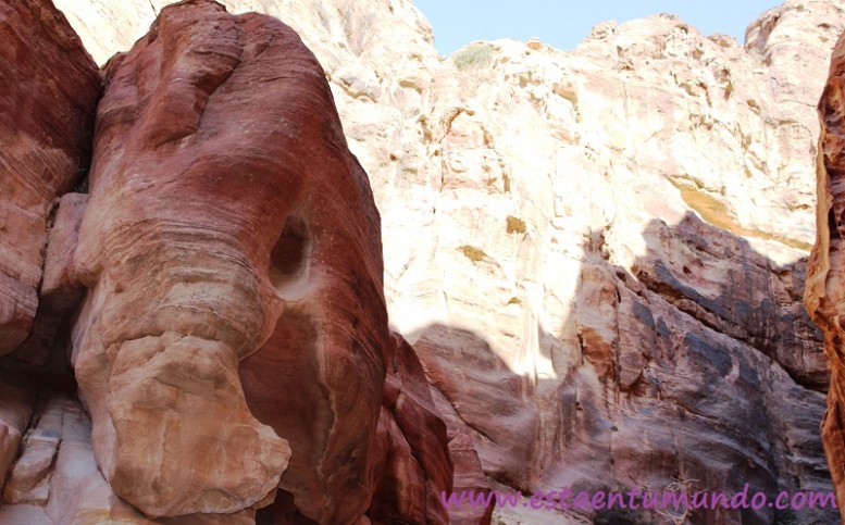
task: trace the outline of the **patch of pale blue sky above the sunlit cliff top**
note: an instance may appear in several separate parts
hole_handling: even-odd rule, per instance
[[[779,0],[413,0],[434,27],[440,54],[472,40],[536,36],[573,49],[598,22],[624,22],[672,13],[705,35],[725,33],[745,41],[745,28]]]

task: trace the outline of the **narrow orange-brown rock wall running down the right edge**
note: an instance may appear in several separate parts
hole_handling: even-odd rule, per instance
[[[840,507],[845,503],[845,38],[833,50],[819,102],[822,134],[818,163],[818,238],[810,257],[805,302],[824,333],[831,386],[821,425],[824,451]],[[845,523],[845,522],[844,522]]]

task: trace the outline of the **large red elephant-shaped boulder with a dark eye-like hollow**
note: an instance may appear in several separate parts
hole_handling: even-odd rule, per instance
[[[105,82],[73,338],[100,470],[150,517],[278,485],[353,522],[389,339],[378,214],[323,71],[281,22],[197,0]]]

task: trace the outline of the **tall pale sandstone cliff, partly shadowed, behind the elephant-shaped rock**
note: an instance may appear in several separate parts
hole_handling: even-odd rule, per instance
[[[128,50],[166,3],[57,1],[101,64]],[[446,423],[456,487],[480,485],[480,461],[488,486],[524,491],[673,480],[830,490],[818,436],[828,373],[801,293],[815,238],[815,107],[845,2],[790,0],[751,23],[744,47],[664,15],[600,24],[573,51],[504,40],[450,58],[437,55],[427,23],[403,0],[224,3],[290,24],[325,70],[381,211],[392,326],[434,387],[431,399],[414,389],[409,398]],[[113,61],[110,74],[132,71],[127,60]],[[84,325],[96,318],[86,315]],[[279,337],[307,339],[301,326]],[[273,354],[277,339],[269,341]],[[254,355],[241,367],[246,390],[249,371],[269,367]],[[284,370],[310,370],[291,366]],[[401,443],[401,430],[419,450],[390,383],[380,393],[375,448],[388,447],[385,436]],[[96,397],[101,387],[89,388]],[[264,405],[279,395],[258,393]],[[78,414],[61,400],[41,421],[62,407]],[[283,412],[270,407],[268,423]],[[311,447],[309,438],[299,446]],[[394,457],[408,458],[406,445]],[[396,483],[376,493],[396,496],[371,516],[427,516],[397,499],[402,480],[423,491],[445,483],[428,466],[443,460],[417,458],[413,468],[384,471]],[[306,510],[300,480],[285,487],[283,476],[293,496],[277,498],[275,516],[296,513],[279,509],[288,503]],[[505,523],[561,518],[497,512]],[[775,517],[762,509],[698,520]],[[835,514],[800,517],[831,523]]]

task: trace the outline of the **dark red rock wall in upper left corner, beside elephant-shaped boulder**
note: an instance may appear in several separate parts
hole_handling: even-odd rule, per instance
[[[97,66],[49,0],[0,2],[0,355],[29,335],[53,199],[88,166]]]

